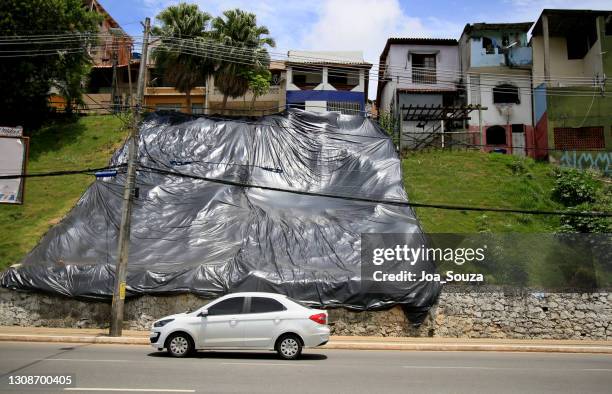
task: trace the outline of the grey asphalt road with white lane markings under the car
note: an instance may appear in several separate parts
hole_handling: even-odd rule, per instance
[[[0,391],[212,393],[606,393],[612,356],[554,353],[307,350],[199,352],[174,359],[147,346],[0,342]],[[71,387],[9,377],[72,375]]]

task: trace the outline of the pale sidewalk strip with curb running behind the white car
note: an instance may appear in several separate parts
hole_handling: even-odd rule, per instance
[[[61,342],[90,344],[148,345],[149,339],[143,337],[108,337],[76,335],[28,335],[0,334],[4,342]],[[529,345],[529,344],[489,344],[489,343],[380,343],[350,342],[333,340],[322,349],[343,350],[406,350],[441,352],[538,352],[538,353],[591,353],[612,354],[610,346],[584,345]]]

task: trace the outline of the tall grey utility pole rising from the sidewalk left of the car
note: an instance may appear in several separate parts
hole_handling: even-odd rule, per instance
[[[127,264],[130,249],[130,227],[132,224],[132,204],[134,202],[134,187],[136,185],[136,167],[138,160],[138,128],[142,115],[142,102],[144,97],[145,74],[147,72],[147,49],[149,45],[149,32],[151,20],[145,19],[144,38],[142,42],[142,55],[140,72],[138,74],[138,90],[136,92],[136,106],[133,107],[132,130],[128,140],[128,169],[123,189],[123,207],[121,210],[121,227],[119,229],[118,261],[115,268],[115,290],[111,308],[111,337],[120,337],[123,329],[123,307],[125,301],[125,282],[127,277]]]

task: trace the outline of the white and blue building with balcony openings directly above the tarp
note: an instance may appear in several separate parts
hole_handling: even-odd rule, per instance
[[[287,106],[363,114],[372,64],[362,52],[289,51]]]

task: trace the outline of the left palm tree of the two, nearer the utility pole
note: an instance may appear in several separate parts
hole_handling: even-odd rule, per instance
[[[187,113],[191,113],[191,90],[206,81],[214,71],[214,63],[206,56],[205,40],[210,14],[200,11],[196,4],[180,3],[169,6],[157,15],[160,27],[153,28],[153,34],[161,43],[153,50],[156,68],[163,78],[185,93]],[[188,39],[183,41],[181,39]],[[199,52],[200,56],[193,55]]]

